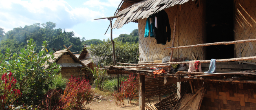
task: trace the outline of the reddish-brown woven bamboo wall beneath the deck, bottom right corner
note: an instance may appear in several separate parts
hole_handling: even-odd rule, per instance
[[[256,110],[256,84],[193,81],[195,92],[206,87],[200,110]]]

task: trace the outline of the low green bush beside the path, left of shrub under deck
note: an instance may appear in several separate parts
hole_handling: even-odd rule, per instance
[[[104,89],[109,90],[109,91],[117,90],[117,79],[112,78],[112,79],[106,80],[104,82]]]

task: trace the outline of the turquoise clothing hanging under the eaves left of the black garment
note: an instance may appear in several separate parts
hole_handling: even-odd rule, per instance
[[[150,37],[154,37],[154,16],[153,15],[150,15],[146,20],[144,37],[148,37],[149,33],[150,33]]]

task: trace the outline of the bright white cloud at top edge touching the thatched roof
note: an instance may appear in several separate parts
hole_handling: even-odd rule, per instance
[[[118,7],[120,4],[121,0],[107,0],[107,2],[101,2],[99,0],[88,0],[84,2],[84,5],[89,6],[89,7]]]

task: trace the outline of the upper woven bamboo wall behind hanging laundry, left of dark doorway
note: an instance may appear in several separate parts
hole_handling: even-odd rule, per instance
[[[168,13],[169,23],[173,35],[174,18],[177,15],[177,9],[179,8],[174,46],[185,46],[203,43],[203,19],[200,1],[201,0],[199,0],[199,7],[196,7],[195,2],[190,0],[185,4],[182,4],[181,7],[174,6],[165,9],[166,13]],[[145,38],[145,25],[146,19],[140,19],[138,24],[139,61],[161,60],[163,57],[170,55],[171,50],[163,50],[163,48],[172,46],[172,41],[167,42],[166,45],[162,45],[156,44],[156,40],[154,38]],[[192,54],[194,54],[198,60],[204,59],[203,47],[174,49],[174,57],[176,58],[186,57],[187,59],[193,59]]]

